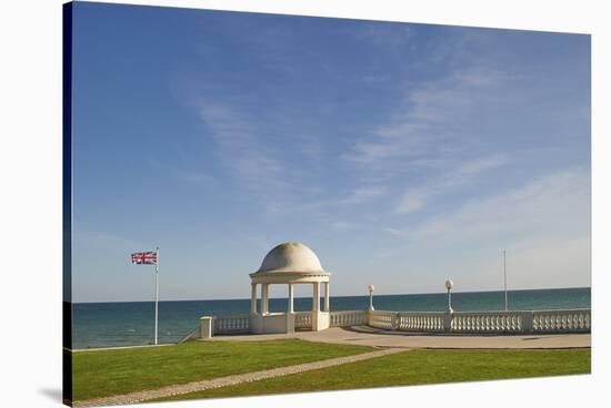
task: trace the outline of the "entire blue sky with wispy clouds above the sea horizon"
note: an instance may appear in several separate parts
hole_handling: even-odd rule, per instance
[[[73,299],[590,286],[590,38],[77,3]],[[297,295],[310,295],[298,288]],[[302,292],[301,292],[302,290]],[[286,288],[272,288],[284,296]]]

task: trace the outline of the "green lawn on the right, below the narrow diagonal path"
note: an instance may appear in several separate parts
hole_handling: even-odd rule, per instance
[[[590,373],[590,349],[409,350],[162,400],[303,392]]]

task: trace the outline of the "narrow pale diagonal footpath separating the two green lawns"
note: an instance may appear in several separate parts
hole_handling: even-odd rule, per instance
[[[141,402],[149,399],[163,398],[180,394],[203,391],[206,389],[233,386],[247,381],[258,381],[266,378],[288,376],[290,374],[303,373],[319,368],[339,366],[341,364],[368,360],[370,358],[381,357],[393,353],[404,351],[403,348],[387,348],[371,353],[359,354],[355,356],[330,358],[321,361],[304,363],[296,366],[273,368],[263,371],[238,374],[234,376],[214,378],[203,381],[194,381],[182,385],[169,386],[153,390],[137,391],[119,396],[96,398],[82,401],[74,401],[74,407],[93,407],[108,405],[127,405]]]

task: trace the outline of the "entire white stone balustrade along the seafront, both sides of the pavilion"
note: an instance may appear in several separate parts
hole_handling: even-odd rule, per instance
[[[277,317],[286,319],[288,316],[278,314]],[[297,312],[292,316],[294,329],[312,328],[311,312]],[[387,330],[475,335],[590,333],[592,324],[590,309],[454,313],[341,310],[330,312],[328,318],[330,327],[367,325]],[[251,327],[252,324],[250,315],[204,316],[200,319],[200,327],[183,340],[259,332],[257,327]],[[286,324],[288,327],[288,322]]]

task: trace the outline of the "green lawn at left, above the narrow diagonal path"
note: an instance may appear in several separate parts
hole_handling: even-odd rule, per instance
[[[299,339],[191,341],[72,355],[74,400],[223,377],[370,351]]]

